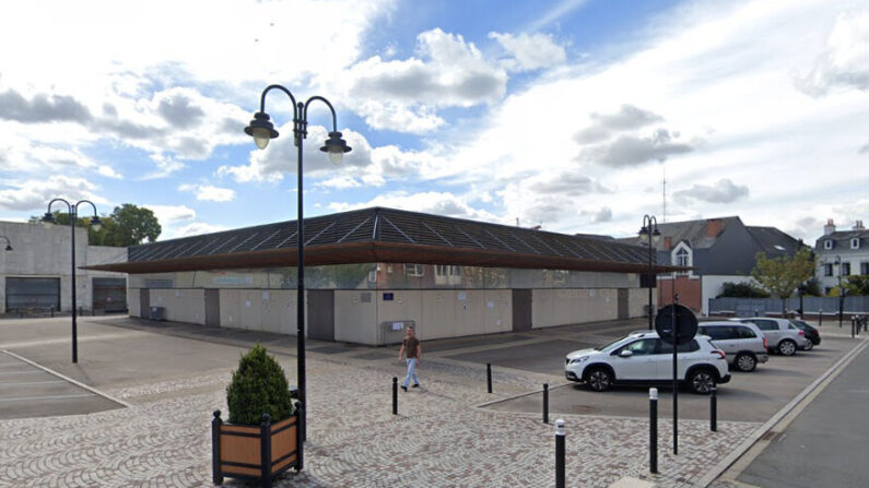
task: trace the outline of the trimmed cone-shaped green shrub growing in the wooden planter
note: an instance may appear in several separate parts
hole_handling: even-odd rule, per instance
[[[293,415],[293,403],[281,365],[257,344],[242,356],[226,386],[230,422],[259,425],[262,414],[277,422]]]

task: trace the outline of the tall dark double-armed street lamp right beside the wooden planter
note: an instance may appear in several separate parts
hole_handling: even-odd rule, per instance
[[[307,102],[296,103],[295,97],[287,88],[282,85],[269,85],[262,91],[260,97],[259,111],[254,114],[254,120],[245,128],[245,133],[254,138],[257,147],[265,150],[269,145],[269,140],[278,136],[278,131],[274,126],[269,121],[270,117],[266,112],[266,94],[271,90],[279,90],[286,94],[293,103],[293,134],[294,144],[298,148],[298,216],[296,218],[296,236],[297,236],[297,270],[298,279],[296,285],[296,346],[297,346],[297,360],[296,370],[298,377],[298,402],[302,405],[302,431],[303,441],[305,439],[306,417],[307,417],[307,395],[305,390],[305,228],[304,228],[304,213],[303,213],[303,193],[302,193],[302,144],[307,138],[308,124],[308,106],[312,102],[320,100],[329,107],[332,112],[332,131],[329,132],[329,140],[326,141],[320,151],[329,154],[329,159],[338,164],[344,156],[344,153],[350,152],[350,146],[341,139],[341,132],[338,132],[338,117],[336,116],[332,104],[321,96],[312,96]],[[298,469],[303,467],[303,450],[302,445],[298,447]]]

